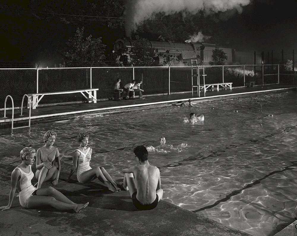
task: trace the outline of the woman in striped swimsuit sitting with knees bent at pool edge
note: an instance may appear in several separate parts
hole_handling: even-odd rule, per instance
[[[95,178],[98,178],[102,183],[104,183],[110,191],[117,192],[121,190],[113,179],[110,177],[108,172],[104,167],[90,167],[90,160],[92,155],[92,148],[88,147],[89,134],[86,132],[80,132],[78,134],[78,142],[80,146],[75,150],[73,156],[73,164],[68,177],[70,180],[71,176],[77,168],[77,180],[80,183],[88,183]]]

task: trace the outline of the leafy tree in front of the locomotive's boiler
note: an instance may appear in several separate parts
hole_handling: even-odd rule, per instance
[[[139,38],[136,36],[136,40],[133,42],[131,63],[138,66],[150,66],[154,62],[154,49],[149,47],[149,40],[145,38]]]

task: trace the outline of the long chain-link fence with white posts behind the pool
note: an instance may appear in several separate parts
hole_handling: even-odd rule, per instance
[[[283,65],[205,66],[204,70],[206,84],[232,82],[232,87],[243,87],[244,82],[254,81],[255,85],[296,85],[296,74]],[[144,95],[192,91],[191,66],[0,69],[0,108],[7,95],[19,107],[24,94],[37,92],[99,88],[97,99],[108,99],[113,97],[117,78],[121,78],[121,87],[133,79],[136,83],[143,80]],[[44,96],[39,104],[79,101],[86,102],[80,93],[56,94]]]

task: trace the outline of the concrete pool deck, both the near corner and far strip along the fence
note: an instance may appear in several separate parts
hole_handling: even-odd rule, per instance
[[[86,114],[108,114],[171,106],[176,104],[177,101],[187,102],[188,99],[193,102],[203,102],[253,96],[253,94],[257,93],[292,91],[292,89],[296,90],[296,86],[292,88],[276,85],[206,92],[206,97],[200,98],[192,97],[192,93],[186,93],[147,96],[144,100],[137,99],[122,102],[98,101],[96,104],[61,104],[38,107],[36,110],[32,110],[31,123],[63,120]],[[0,114],[3,117],[3,111]],[[16,122],[16,124],[20,125],[25,123],[28,123],[28,118]],[[2,120],[0,126],[1,128],[9,128],[11,119]],[[3,206],[8,204],[10,175],[12,170],[20,164],[19,152],[24,146],[1,137],[0,145],[0,206]],[[34,165],[32,170],[35,172]],[[136,211],[127,191],[113,193],[108,191],[99,181],[82,185],[74,178],[70,183],[66,182],[65,178],[69,170],[70,165],[63,162],[59,184],[56,189],[73,202],[89,202],[86,209],[78,214],[61,212],[53,208],[25,209],[20,206],[18,197],[14,197],[12,208],[0,212],[0,235],[249,235],[163,200],[153,210]],[[121,182],[121,180],[116,181]],[[33,178],[32,182],[36,183],[36,179]],[[44,186],[50,186],[50,183],[45,183]]]

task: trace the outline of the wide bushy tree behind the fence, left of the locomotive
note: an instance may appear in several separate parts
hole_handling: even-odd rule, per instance
[[[67,47],[62,53],[67,65],[77,65],[86,62],[101,62],[105,60],[105,44],[101,38],[93,38],[90,34],[84,38],[84,27],[77,28],[75,34],[66,42]]]

